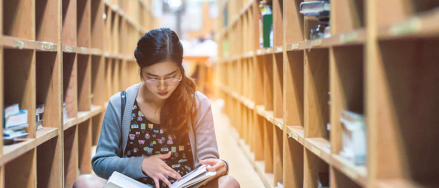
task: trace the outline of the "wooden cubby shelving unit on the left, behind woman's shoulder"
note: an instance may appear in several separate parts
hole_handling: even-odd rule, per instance
[[[71,188],[92,172],[108,99],[140,81],[133,50],[156,26],[152,7],[151,0],[0,3],[0,105],[27,109],[30,134],[0,143],[0,188]],[[44,128],[36,131],[38,104]]]

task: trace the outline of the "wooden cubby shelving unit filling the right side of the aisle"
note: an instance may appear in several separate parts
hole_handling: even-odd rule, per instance
[[[331,37],[309,40],[301,2],[272,0],[261,49],[259,1],[219,1],[217,94],[265,186],[438,187],[439,3],[331,0]],[[365,114],[367,165],[339,155],[342,110]]]

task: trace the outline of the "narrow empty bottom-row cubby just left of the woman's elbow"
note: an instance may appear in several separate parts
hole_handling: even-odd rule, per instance
[[[79,174],[90,174],[91,168],[91,146],[92,128],[91,119],[87,119],[78,125],[78,165]]]

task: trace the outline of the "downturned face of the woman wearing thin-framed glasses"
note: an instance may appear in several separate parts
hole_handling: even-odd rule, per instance
[[[144,82],[148,82],[147,80],[150,79],[163,81],[170,78],[176,78],[180,80],[181,77],[180,68],[173,61],[162,61],[154,65],[144,67],[141,71]],[[169,96],[178,86],[178,84],[172,84],[172,82],[160,82],[158,86],[148,86],[146,83],[143,84],[145,84],[148,90],[150,90],[151,93],[159,99],[169,98]]]

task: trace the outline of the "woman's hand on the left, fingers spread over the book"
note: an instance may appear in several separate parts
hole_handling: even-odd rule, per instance
[[[168,159],[171,154],[171,152],[168,152],[166,154],[152,155],[144,158],[142,161],[142,171],[154,180],[156,188],[160,188],[158,184],[159,180],[165,182],[168,187],[172,186],[166,176],[176,180],[181,179],[180,174],[163,162],[163,160]]]

